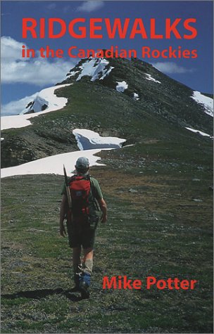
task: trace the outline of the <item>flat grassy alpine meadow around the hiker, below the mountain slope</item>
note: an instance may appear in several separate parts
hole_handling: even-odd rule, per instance
[[[212,333],[212,153],[208,141],[202,148],[203,156],[193,147],[175,156],[165,143],[101,153],[106,167],[91,174],[108,222],[96,233],[89,300],[71,291],[71,250],[58,233],[63,176],[2,179],[1,333]],[[104,289],[104,276],[141,289]],[[148,289],[149,276],[197,282]]]

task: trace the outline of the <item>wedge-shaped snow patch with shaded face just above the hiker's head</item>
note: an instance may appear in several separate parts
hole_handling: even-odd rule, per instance
[[[101,137],[97,132],[87,129],[73,130],[77,146],[80,150],[92,148],[121,148],[126,140],[118,137]]]

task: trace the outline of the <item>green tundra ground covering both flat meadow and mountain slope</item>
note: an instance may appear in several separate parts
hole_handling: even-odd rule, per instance
[[[121,64],[115,79],[124,78]],[[211,117],[188,100],[190,89],[153,68],[146,71],[165,86],[155,91],[147,80],[134,101],[142,66],[134,64],[127,94],[109,78],[103,84],[83,78],[58,90],[68,98],[63,110],[2,131],[2,148],[11,149],[8,158],[2,153],[4,167],[77,150],[75,128],[132,146],[101,151],[106,166],[91,169],[108,222],[96,233],[89,300],[72,292],[71,251],[58,233],[63,176],[2,179],[1,333],[212,333],[213,141],[184,128],[210,134]],[[104,276],[142,286],[103,289]],[[197,282],[194,289],[148,290],[148,276]]]

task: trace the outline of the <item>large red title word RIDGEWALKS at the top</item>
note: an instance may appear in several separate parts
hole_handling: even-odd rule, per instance
[[[156,18],[151,18],[149,24],[142,18],[134,21],[130,18],[75,18],[69,23],[62,18],[23,18],[23,38],[58,39],[65,34],[75,39],[102,39],[106,34],[109,39],[194,39],[197,36],[196,18],[165,18],[163,23],[160,31]]]

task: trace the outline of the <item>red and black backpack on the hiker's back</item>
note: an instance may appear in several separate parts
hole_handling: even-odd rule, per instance
[[[89,214],[89,193],[91,190],[90,176],[72,176],[69,180],[69,188],[73,214],[76,216]]]

